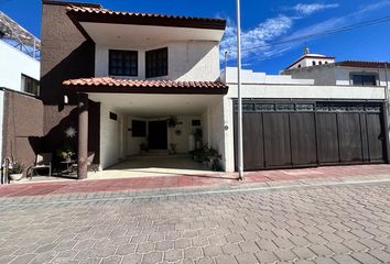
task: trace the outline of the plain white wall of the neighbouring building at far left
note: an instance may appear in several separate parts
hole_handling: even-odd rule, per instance
[[[40,80],[40,62],[0,41],[0,87],[22,91],[22,74]]]

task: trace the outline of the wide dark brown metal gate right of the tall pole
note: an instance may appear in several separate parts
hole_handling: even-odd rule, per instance
[[[246,170],[387,161],[382,102],[245,100],[242,108]]]

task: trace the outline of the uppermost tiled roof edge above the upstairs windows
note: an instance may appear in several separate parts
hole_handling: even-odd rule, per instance
[[[108,22],[107,19],[113,19],[117,23],[118,20],[121,19],[121,23],[126,23],[126,21],[136,22],[136,24],[142,24],[142,21],[145,24],[151,24],[152,20],[155,22],[176,22],[177,26],[188,26],[188,28],[203,28],[203,29],[217,29],[225,30],[226,20],[223,19],[214,19],[214,18],[195,18],[195,16],[184,16],[184,15],[166,15],[166,14],[155,14],[155,13],[137,13],[137,12],[124,12],[124,11],[113,11],[105,8],[96,8],[96,7],[82,7],[82,6],[73,6],[69,4],[67,8],[68,14],[78,14],[78,15],[88,15],[87,22],[97,22],[97,20],[101,20],[101,22]],[[98,16],[96,16],[98,15]],[[94,16],[94,18],[91,18]],[[106,19],[104,19],[104,16]],[[108,18],[109,16],[109,18]],[[86,18],[85,18],[86,19]],[[165,23],[155,25],[166,25]],[[198,23],[198,24],[196,24]],[[174,26],[174,25],[173,25]]]

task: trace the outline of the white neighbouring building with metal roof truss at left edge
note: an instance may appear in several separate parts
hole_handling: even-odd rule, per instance
[[[20,35],[23,36],[20,38]],[[39,96],[40,61],[29,54],[29,51],[32,52],[34,47],[29,46],[28,38],[34,38],[36,45],[40,41],[2,12],[0,12],[0,127],[2,129],[0,150],[2,150],[4,91]],[[36,55],[35,52],[32,53]],[[0,161],[2,161],[1,151]]]

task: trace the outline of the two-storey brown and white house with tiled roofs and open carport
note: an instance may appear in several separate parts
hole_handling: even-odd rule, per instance
[[[78,154],[95,152],[104,169],[139,154],[142,144],[188,153],[197,129],[213,144],[207,138],[219,125],[212,120],[214,107],[227,92],[219,81],[225,26],[220,19],[44,1],[46,146],[59,147],[68,141],[63,131],[74,127]]]

